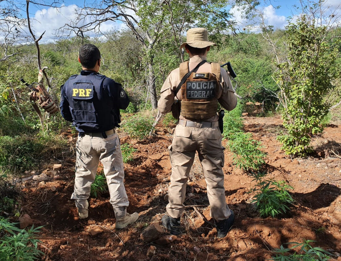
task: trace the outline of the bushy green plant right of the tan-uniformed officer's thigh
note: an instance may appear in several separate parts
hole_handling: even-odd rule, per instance
[[[228,140],[228,147],[234,154],[233,163],[240,169],[259,170],[265,163],[266,153],[260,150],[261,142],[253,140],[251,133],[234,133]]]

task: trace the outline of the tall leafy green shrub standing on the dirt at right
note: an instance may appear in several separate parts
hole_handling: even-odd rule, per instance
[[[286,29],[288,61],[277,65],[275,76],[284,108],[283,126],[287,129],[287,135],[279,140],[286,154],[304,156],[311,150],[311,136],[323,131],[321,121],[330,107],[324,97],[335,88],[332,80],[340,75],[336,62],[339,40],[331,42],[326,37],[328,27],[317,26],[307,16]]]

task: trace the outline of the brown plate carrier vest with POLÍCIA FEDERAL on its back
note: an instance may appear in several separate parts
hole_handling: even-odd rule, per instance
[[[188,61],[180,63],[180,79],[189,72]],[[205,120],[217,114],[220,64],[211,63],[211,73],[193,72],[181,85],[181,112],[190,120]]]

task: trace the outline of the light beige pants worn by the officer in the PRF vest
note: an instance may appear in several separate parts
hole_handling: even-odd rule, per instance
[[[98,163],[101,161],[115,217],[124,217],[129,201],[123,184],[123,160],[117,134],[109,135],[105,139],[102,133],[78,136],[76,154],[75,186],[71,196],[76,206],[80,208],[85,206],[90,195],[91,184],[95,180]]]

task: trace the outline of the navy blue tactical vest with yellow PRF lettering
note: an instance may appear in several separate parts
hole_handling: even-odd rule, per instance
[[[104,132],[118,125],[113,97],[102,88],[106,76],[72,75],[66,83],[73,125],[80,132]]]

